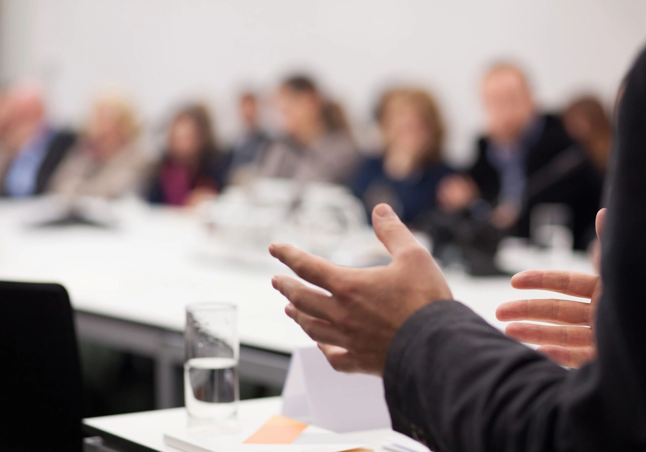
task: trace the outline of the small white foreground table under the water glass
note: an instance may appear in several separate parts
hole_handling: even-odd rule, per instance
[[[238,408],[238,419],[240,422],[246,419],[269,419],[274,414],[280,414],[281,407],[279,397],[244,400]],[[85,435],[90,437],[86,440],[85,451],[178,452],[179,449],[164,444],[163,433],[168,429],[177,429],[179,425],[186,425],[187,422],[188,416],[183,407],[85,419]],[[352,442],[369,444],[374,452],[385,452],[382,444],[392,438],[397,438],[398,444],[414,444],[410,438],[391,429],[353,432],[347,435],[351,436]],[[96,439],[97,437],[101,440]]]

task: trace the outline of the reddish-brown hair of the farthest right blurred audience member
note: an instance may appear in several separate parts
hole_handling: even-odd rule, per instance
[[[612,122],[610,115],[599,99],[592,94],[585,94],[575,98],[563,110],[562,117],[581,116],[590,127],[590,134],[586,137],[576,137],[590,159],[598,166],[605,167],[610,153],[610,140],[612,138]]]

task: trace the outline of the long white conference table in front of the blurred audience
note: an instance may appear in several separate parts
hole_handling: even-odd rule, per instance
[[[238,306],[240,376],[280,388],[291,352],[312,345],[283,312],[286,301],[271,287],[271,275],[289,272],[267,256],[260,263],[217,258],[209,252],[197,215],[149,208],[134,200],[120,206],[119,227],[33,228],[42,200],[0,201],[0,279],[64,285],[77,316],[78,334],[156,362],[158,408],[176,406],[174,366],[183,363],[185,306],[227,301]],[[375,239],[376,240],[376,239]],[[538,252],[508,253],[514,270],[560,266],[589,271],[583,255],[554,262]],[[495,327],[503,301],[545,297],[514,290],[509,277],[470,277],[446,272],[453,296]],[[528,292],[533,292],[528,293]]]

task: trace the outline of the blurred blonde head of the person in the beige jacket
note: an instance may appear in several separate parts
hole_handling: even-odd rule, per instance
[[[109,158],[139,135],[132,102],[116,92],[103,92],[92,103],[85,140],[98,158]]]

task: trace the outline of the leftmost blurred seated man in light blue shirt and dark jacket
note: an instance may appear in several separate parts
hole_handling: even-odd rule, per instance
[[[49,124],[43,97],[38,87],[26,84],[10,88],[3,96],[0,195],[28,197],[43,193],[74,145],[74,133]]]

